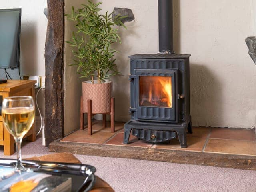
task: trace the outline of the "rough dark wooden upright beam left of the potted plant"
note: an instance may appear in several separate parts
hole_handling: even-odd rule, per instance
[[[46,146],[64,136],[64,0],[47,0],[48,25],[45,44]]]

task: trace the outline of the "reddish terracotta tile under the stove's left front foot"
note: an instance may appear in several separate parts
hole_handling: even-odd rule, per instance
[[[106,142],[108,145],[119,145],[119,146],[132,146],[132,147],[151,147],[152,144],[148,142],[144,142],[142,140],[138,140],[137,137],[130,135],[129,143],[123,144],[124,133],[117,133],[111,140]]]

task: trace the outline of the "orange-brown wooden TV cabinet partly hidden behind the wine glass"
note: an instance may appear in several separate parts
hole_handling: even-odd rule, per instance
[[[35,80],[8,80],[0,84],[0,104],[4,98],[9,96],[32,96],[35,101],[35,83]],[[24,137],[28,137],[29,141],[36,140],[35,123]],[[4,146],[4,155],[14,154],[14,143],[12,135],[4,128],[0,115],[0,145]]]

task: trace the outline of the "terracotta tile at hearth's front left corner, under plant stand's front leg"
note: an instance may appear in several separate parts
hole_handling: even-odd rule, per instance
[[[88,135],[87,130],[77,130],[60,141],[103,144],[114,134],[111,132],[93,131],[92,135]]]

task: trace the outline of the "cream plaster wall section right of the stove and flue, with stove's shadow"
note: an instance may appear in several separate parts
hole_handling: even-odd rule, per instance
[[[255,35],[254,11],[250,0],[180,1],[179,51],[192,54],[194,125],[255,126],[256,67],[244,42]]]

